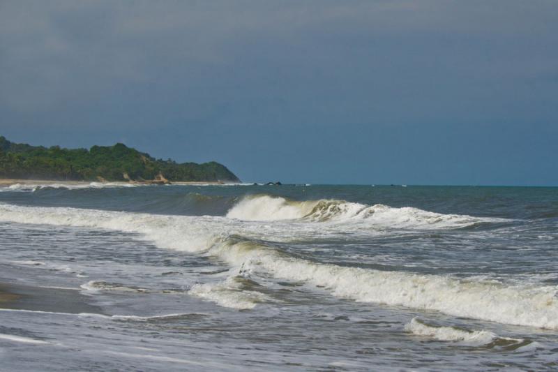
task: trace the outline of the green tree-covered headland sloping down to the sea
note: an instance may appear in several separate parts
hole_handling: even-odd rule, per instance
[[[162,176],[162,177],[160,177]],[[18,144],[0,136],[0,178],[71,181],[239,181],[224,165],[155,159],[125,144],[62,149]]]

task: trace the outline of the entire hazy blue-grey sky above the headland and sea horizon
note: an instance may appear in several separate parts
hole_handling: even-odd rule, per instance
[[[558,185],[558,1],[0,1],[0,135],[243,181]]]

